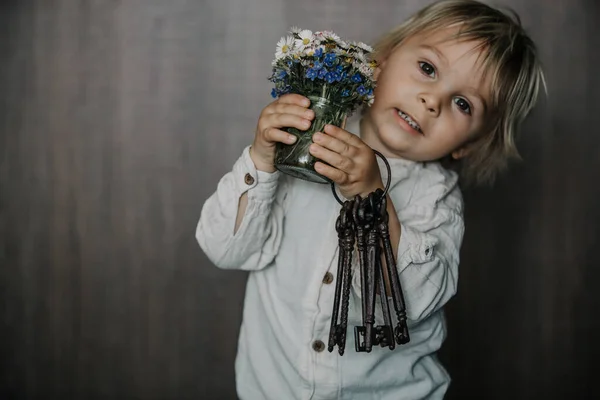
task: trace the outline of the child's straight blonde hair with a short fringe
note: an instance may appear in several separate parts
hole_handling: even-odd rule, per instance
[[[446,0],[426,6],[388,32],[374,46],[375,60],[385,59],[407,38],[460,25],[457,37],[473,40],[484,50],[483,66],[492,72],[491,131],[475,140],[460,161],[467,183],[492,183],[510,159],[520,159],[515,145],[519,125],[535,106],[540,87],[546,88],[537,49],[519,16],[512,17],[474,0]]]

